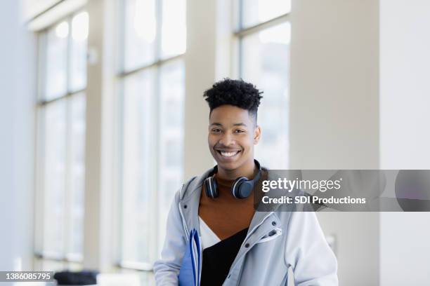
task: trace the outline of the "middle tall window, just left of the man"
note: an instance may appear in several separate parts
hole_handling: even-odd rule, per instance
[[[123,0],[119,265],[150,271],[183,175],[185,0]]]

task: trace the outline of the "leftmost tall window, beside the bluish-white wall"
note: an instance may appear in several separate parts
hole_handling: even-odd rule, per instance
[[[79,268],[83,252],[88,13],[39,34],[36,268]]]

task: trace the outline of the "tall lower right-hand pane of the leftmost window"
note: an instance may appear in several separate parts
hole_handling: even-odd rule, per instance
[[[82,257],[84,238],[84,184],[85,184],[85,95],[70,98],[70,224],[67,252]],[[79,255],[80,254],[80,255]]]

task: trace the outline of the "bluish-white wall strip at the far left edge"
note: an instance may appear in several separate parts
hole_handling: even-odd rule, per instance
[[[0,7],[0,270],[31,269],[34,170],[34,39],[20,2]]]

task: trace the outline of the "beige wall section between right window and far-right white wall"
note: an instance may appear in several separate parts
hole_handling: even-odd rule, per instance
[[[379,4],[293,0],[290,168],[379,167]],[[379,214],[319,212],[339,285],[378,285]]]

